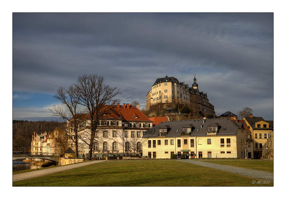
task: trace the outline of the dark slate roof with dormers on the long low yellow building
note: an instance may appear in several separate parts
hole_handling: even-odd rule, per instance
[[[203,121],[205,121],[203,123]],[[240,128],[238,124],[230,120],[229,118],[214,118],[214,119],[204,119],[204,120],[180,120],[180,121],[166,121],[154,126],[153,128],[147,130],[142,138],[155,138],[157,137],[157,132],[162,126],[169,126],[170,130],[167,132],[166,137],[181,137],[182,127],[186,125],[192,125],[191,137],[192,136],[206,136],[206,131],[210,124],[219,126],[219,131],[217,136],[234,136],[237,134]],[[202,125],[202,128],[201,128]],[[223,130],[226,128],[225,130]],[[199,129],[198,131],[196,131]],[[178,130],[178,132],[176,132]],[[152,133],[154,131],[154,133]]]

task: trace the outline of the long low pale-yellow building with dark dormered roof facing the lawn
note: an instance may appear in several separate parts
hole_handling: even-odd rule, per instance
[[[143,135],[143,156],[170,158],[245,158],[237,135],[241,124],[229,118],[162,122]]]

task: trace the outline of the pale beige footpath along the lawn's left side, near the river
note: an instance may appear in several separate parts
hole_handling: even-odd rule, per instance
[[[98,162],[104,162],[106,160],[94,160],[94,161],[89,161],[89,162],[81,162],[78,164],[69,164],[65,166],[58,166],[58,167],[53,167],[53,168],[48,168],[48,169],[42,169],[42,170],[36,170],[36,171],[30,171],[30,172],[25,172],[21,174],[14,174],[13,175],[13,182],[20,181],[20,180],[25,180],[28,178],[34,178],[38,176],[45,176],[48,174],[64,171],[64,170],[69,170],[81,166],[86,166],[90,164],[95,164]]]

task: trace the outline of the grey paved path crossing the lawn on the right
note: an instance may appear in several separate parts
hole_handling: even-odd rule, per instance
[[[270,181],[270,182],[273,182],[274,180],[273,173],[266,172],[266,171],[245,169],[245,168],[240,168],[240,167],[235,167],[235,166],[215,164],[215,163],[203,162],[203,161],[198,161],[198,160],[178,160],[178,161],[187,162],[190,164],[196,164],[199,166],[209,167],[213,169],[223,170],[223,171],[231,172],[234,174],[239,174],[242,176],[248,176],[251,178],[257,178],[260,180],[265,180],[265,181]]]

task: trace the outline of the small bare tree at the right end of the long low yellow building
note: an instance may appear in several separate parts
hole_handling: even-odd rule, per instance
[[[253,139],[251,136],[251,131],[246,124],[241,126],[241,131],[237,133],[237,140],[235,141],[237,150],[245,151],[245,159],[247,159],[247,149],[252,148]]]

